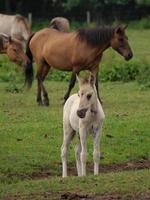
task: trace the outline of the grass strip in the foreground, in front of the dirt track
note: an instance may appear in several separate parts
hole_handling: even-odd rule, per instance
[[[53,177],[44,180],[28,180],[2,186],[2,196],[19,196],[23,199],[46,199],[44,193],[50,193],[47,199],[59,199],[61,193],[77,192],[90,195],[119,193],[121,195],[148,192],[150,171],[131,171],[100,174],[88,178]],[[79,184],[80,181],[80,184]],[[31,198],[32,197],[32,198]],[[55,197],[55,198],[54,198]],[[129,198],[128,198],[129,199]]]

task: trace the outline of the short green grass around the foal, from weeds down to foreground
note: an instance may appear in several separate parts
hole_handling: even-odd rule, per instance
[[[106,191],[132,193],[147,191],[149,170],[89,176],[62,180],[62,100],[67,84],[45,82],[50,107],[38,107],[36,84],[30,91],[10,93],[0,84],[0,190],[1,197],[46,191],[80,191],[101,194]],[[74,91],[77,90],[77,87]],[[132,83],[103,83],[101,96],[106,119],[101,138],[101,165],[150,159],[150,91]],[[112,135],[112,138],[107,135]],[[92,138],[88,140],[88,161],[92,162]],[[69,165],[75,166],[74,144]],[[48,173],[49,179],[30,180],[32,175]],[[88,174],[90,174],[88,172]],[[26,180],[29,179],[29,180]],[[89,185],[93,187],[89,188]],[[93,188],[93,189],[92,189]],[[42,198],[39,198],[42,199]]]

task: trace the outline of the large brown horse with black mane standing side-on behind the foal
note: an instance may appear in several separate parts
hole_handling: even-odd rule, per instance
[[[76,74],[81,70],[89,70],[95,74],[98,92],[98,71],[103,52],[112,47],[126,60],[133,56],[125,28],[82,28],[71,33],[45,28],[32,35],[28,41],[26,53],[31,61],[34,58],[38,66],[37,102],[49,105],[49,98],[43,81],[51,67],[72,71],[71,81],[64,100],[69,97],[76,81]],[[32,65],[26,67],[29,69]],[[26,75],[26,80],[31,80],[30,74],[26,73]],[[41,92],[43,92],[43,101]]]

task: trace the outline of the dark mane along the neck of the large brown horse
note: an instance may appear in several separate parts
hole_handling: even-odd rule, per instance
[[[98,28],[80,28],[77,36],[81,41],[87,41],[90,45],[104,44],[109,41],[114,34],[114,28],[98,27]]]

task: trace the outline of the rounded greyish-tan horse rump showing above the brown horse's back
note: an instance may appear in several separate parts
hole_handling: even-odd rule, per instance
[[[49,27],[65,33],[70,30],[69,20],[64,17],[53,18],[49,23]]]

